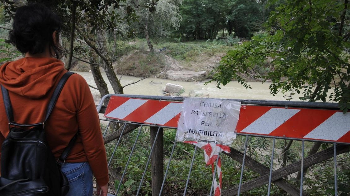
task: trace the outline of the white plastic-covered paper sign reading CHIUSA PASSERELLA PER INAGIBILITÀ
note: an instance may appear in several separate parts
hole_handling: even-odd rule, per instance
[[[212,141],[230,145],[236,139],[240,102],[185,98],[177,124],[177,141]]]

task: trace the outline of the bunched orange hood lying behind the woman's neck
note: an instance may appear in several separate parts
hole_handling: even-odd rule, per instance
[[[58,59],[25,57],[0,67],[0,84],[18,95],[38,99],[47,95],[63,70]]]

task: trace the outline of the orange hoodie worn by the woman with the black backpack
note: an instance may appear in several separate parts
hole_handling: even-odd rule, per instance
[[[9,91],[15,122],[42,122],[49,99],[66,72],[63,63],[54,58],[26,57],[3,64],[0,67],[0,84]],[[73,74],[65,83],[45,123],[45,134],[55,158],[61,155],[77,131],[78,139],[66,162],[88,161],[97,184],[104,186],[109,177],[98,113],[85,79]],[[1,93],[0,132],[2,144],[9,127]]]

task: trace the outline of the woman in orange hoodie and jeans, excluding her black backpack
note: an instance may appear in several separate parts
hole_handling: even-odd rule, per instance
[[[60,18],[47,7],[33,3],[18,8],[9,43],[25,57],[0,67],[0,84],[8,91],[16,122],[42,122],[45,110],[59,79],[67,71],[58,60]],[[0,144],[9,133],[8,120],[0,93]],[[97,194],[107,195],[109,181],[106,151],[98,114],[84,78],[73,74],[65,83],[56,105],[45,123],[47,141],[55,158],[70,139],[78,139],[61,169],[70,184],[68,195],[92,195],[92,173]]]

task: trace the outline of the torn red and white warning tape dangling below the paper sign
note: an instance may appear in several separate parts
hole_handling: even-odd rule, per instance
[[[221,159],[219,157],[218,159],[218,166],[217,166],[217,175],[219,178],[219,184],[216,181],[216,178],[214,176],[214,163],[217,159],[217,156],[220,152],[225,151],[226,153],[230,153],[230,147],[216,144],[214,142],[207,143],[207,142],[193,142],[193,141],[185,141],[184,143],[193,144],[197,147],[204,150],[204,160],[205,164],[211,165],[212,173],[213,173],[213,179],[214,179],[214,192],[215,196],[221,196],[221,187],[222,187],[222,172],[221,172]]]

